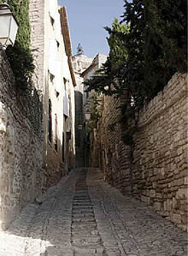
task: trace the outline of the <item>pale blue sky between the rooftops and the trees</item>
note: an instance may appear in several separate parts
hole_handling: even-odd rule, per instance
[[[124,0],[58,0],[58,3],[67,8],[73,55],[79,43],[88,57],[109,54],[108,33],[103,27],[111,27],[114,18],[120,18]]]

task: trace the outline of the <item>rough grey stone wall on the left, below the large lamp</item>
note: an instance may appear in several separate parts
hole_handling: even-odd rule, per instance
[[[0,49],[0,229],[43,190],[41,111],[35,89],[28,94],[14,85]]]

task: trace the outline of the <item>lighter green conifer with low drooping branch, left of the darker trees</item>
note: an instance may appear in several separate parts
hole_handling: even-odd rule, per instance
[[[127,58],[127,51],[120,34],[129,33],[129,26],[120,24],[115,19],[112,23],[112,28],[104,27],[109,32],[109,57],[106,63],[103,63],[96,74],[90,80],[85,81],[86,91],[95,90],[96,92],[103,92],[104,94],[112,95],[118,93],[120,86],[120,70]]]

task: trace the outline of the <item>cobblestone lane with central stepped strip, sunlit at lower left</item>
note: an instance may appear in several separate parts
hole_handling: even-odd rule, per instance
[[[185,232],[99,170],[73,170],[38,200],[0,233],[0,256],[187,255]]]

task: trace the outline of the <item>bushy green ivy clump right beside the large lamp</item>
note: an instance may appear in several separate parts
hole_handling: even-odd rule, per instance
[[[0,0],[0,3],[3,3]],[[15,74],[15,85],[21,89],[31,89],[31,76],[34,71],[30,50],[29,0],[11,0],[9,6],[19,24],[15,45],[9,45],[6,54]]]

